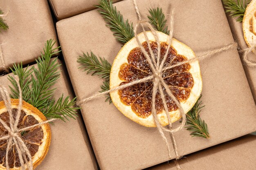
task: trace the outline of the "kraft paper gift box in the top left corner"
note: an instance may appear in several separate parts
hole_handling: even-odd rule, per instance
[[[0,72],[7,71],[13,63],[34,62],[45,41],[56,40],[47,0],[0,0],[0,9],[9,27],[0,32]]]

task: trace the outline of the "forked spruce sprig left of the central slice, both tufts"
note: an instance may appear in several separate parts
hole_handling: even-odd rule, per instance
[[[98,59],[99,58],[99,59]],[[92,73],[92,75],[98,75],[100,78],[103,78],[105,81],[101,85],[101,91],[104,92],[109,90],[109,77],[111,71],[111,64],[105,58],[97,57],[94,53],[83,53],[82,56],[79,56],[77,62],[82,64],[79,68],[83,68],[84,71],[87,71],[87,74]],[[106,95],[106,101],[112,103],[110,94]]]

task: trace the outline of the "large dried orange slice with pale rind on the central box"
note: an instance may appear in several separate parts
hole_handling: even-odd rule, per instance
[[[150,31],[147,31],[146,34],[150,41],[151,49],[155,56],[157,56],[155,38]],[[167,50],[169,36],[162,32],[157,32],[157,34],[161,42],[160,61],[162,61]],[[138,38],[140,42],[143,42],[142,44],[146,51],[149,51],[144,34],[140,33]],[[173,38],[164,66],[174,65],[194,57],[195,53],[188,46]],[[121,84],[148,77],[150,74],[151,69],[146,58],[141,52],[141,49],[139,49],[136,39],[132,38],[119,51],[113,62],[110,73],[110,89]],[[180,101],[185,113],[187,113],[193,107],[202,91],[202,77],[199,62],[196,60],[166,70],[163,72],[162,77],[175,97]],[[152,82],[143,82],[113,91],[110,93],[110,96],[113,104],[126,117],[143,126],[155,127],[155,121],[151,114],[152,87]],[[177,121],[181,117],[180,110],[165,90],[164,93],[171,121]],[[168,124],[168,120],[158,91],[155,103],[159,122],[165,126]]]

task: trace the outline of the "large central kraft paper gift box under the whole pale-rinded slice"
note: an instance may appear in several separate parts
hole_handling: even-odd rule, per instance
[[[133,25],[138,22],[130,0],[114,4]],[[191,47],[195,54],[234,43],[220,0],[138,0],[142,19],[148,9],[162,7],[167,15],[174,9],[174,38]],[[76,62],[79,55],[93,52],[113,63],[124,44],[115,40],[112,31],[97,10],[89,11],[56,24],[59,41],[71,82],[78,100],[101,90],[103,79],[83,72]],[[138,31],[139,32],[139,31]],[[113,68],[112,68],[113,69]],[[180,156],[214,146],[256,130],[256,106],[236,48],[200,60],[202,73],[202,108],[200,116],[209,128],[209,139],[191,137],[183,128],[174,133]],[[124,116],[114,104],[101,96],[82,104],[82,114],[97,161],[102,170],[147,168],[176,158],[157,128],[141,126]],[[173,127],[179,126],[179,121]],[[166,137],[171,144],[170,134]]]

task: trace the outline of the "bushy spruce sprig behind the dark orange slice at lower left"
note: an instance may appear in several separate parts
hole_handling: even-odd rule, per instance
[[[63,121],[68,120],[67,117],[74,118],[76,110],[74,108],[76,97],[69,101],[69,96],[63,100],[63,95],[55,101],[53,93],[56,88],[52,88],[56,80],[60,77],[60,71],[57,63],[57,58],[51,60],[52,55],[60,52],[57,48],[53,49],[55,42],[47,40],[41,57],[36,60],[38,68],[23,68],[22,64],[14,64],[11,71],[19,77],[20,87],[22,89],[23,100],[34,107],[38,108],[47,118],[61,118]],[[8,77],[12,86],[11,98],[19,97],[19,90],[16,81],[13,77]],[[61,117],[63,116],[63,117]]]

